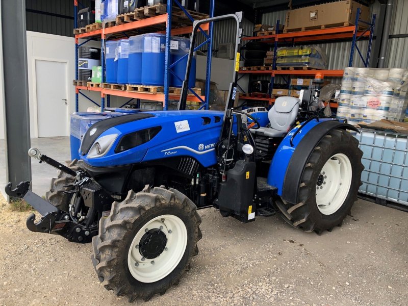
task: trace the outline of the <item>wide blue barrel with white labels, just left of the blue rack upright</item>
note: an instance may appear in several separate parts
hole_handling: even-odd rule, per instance
[[[145,34],[142,52],[142,84],[164,86],[164,58],[166,38],[164,34]]]

